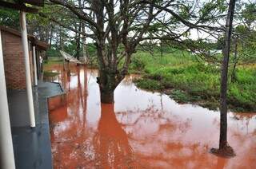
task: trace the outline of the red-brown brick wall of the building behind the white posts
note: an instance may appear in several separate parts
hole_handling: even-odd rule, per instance
[[[2,31],[2,49],[6,75],[6,88],[25,89],[25,61],[22,38]],[[30,52],[30,73],[33,84],[32,52]]]

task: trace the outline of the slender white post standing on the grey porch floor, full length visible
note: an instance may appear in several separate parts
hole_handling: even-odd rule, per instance
[[[31,84],[31,76],[30,76],[30,55],[29,55],[29,45],[27,41],[27,31],[26,31],[26,13],[20,12],[20,22],[22,29],[22,47],[25,58],[25,70],[26,70],[26,92],[27,92],[27,100],[29,104],[29,113],[30,113],[30,127],[35,127],[34,120],[34,101],[33,101],[33,93],[32,93],[32,84]]]

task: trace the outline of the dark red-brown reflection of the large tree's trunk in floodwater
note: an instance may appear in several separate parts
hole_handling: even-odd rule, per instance
[[[114,104],[102,104],[98,132],[94,136],[95,159],[98,167],[134,167],[134,153],[126,132],[114,114]]]

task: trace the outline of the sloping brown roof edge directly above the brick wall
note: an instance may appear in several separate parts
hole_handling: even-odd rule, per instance
[[[18,36],[18,37],[22,37],[22,34],[20,32],[18,32],[18,30],[16,29],[11,29],[9,27],[6,27],[6,26],[0,26],[0,30],[1,31],[4,31],[4,32],[7,32],[7,33],[11,33],[15,36]],[[36,37],[32,36],[32,35],[28,35],[27,38],[32,42],[32,44],[34,44],[36,46],[36,48],[38,49],[42,49],[42,50],[46,50],[48,49],[49,45],[46,44],[45,42],[43,41],[39,41]]]

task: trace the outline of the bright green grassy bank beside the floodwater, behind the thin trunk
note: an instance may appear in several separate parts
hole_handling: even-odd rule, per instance
[[[150,56],[135,53],[130,73],[142,73],[135,81],[139,88],[158,90],[182,103],[197,103],[207,108],[218,108],[220,91],[220,68],[198,62],[189,53]],[[239,112],[256,112],[256,68],[238,67],[237,80],[229,82],[229,108]]]

